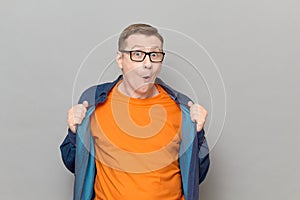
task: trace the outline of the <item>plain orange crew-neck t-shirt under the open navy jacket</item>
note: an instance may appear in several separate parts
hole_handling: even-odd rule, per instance
[[[159,94],[129,98],[117,89],[91,117],[95,140],[95,199],[184,199],[178,152],[181,110]]]

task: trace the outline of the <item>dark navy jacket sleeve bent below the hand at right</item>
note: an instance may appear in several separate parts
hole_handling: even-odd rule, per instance
[[[199,184],[202,183],[207,175],[210,158],[209,158],[209,148],[206,142],[206,138],[204,135],[204,129],[198,132],[198,150],[199,150]]]

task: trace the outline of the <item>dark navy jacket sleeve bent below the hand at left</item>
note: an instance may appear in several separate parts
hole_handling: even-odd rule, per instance
[[[70,172],[75,172],[76,134],[68,129],[68,134],[60,145],[62,160]]]

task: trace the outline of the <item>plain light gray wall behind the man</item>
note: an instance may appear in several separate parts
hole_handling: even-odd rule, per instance
[[[226,122],[216,145],[210,141],[212,165],[201,199],[300,198],[299,1],[0,2],[0,199],[71,199],[73,175],[58,149],[67,110],[99,80],[103,64],[115,55],[115,41],[88,59],[74,87],[77,70],[95,45],[134,22],[191,36],[206,47],[223,77]],[[166,40],[170,50],[201,54],[171,36]],[[197,66],[221,105],[221,112],[211,113],[214,103],[203,80],[192,79],[198,102],[210,111],[208,128],[222,119],[224,99],[211,80],[218,82],[215,72],[208,72],[208,64]],[[163,75],[171,82],[176,76]],[[180,89],[182,83],[172,85]],[[211,130],[208,135],[217,132]]]

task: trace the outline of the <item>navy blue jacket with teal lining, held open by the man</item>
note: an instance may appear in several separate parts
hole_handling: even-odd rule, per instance
[[[78,103],[89,102],[86,117],[77,127],[74,134],[68,135],[60,146],[65,166],[75,174],[74,200],[90,200],[94,198],[94,180],[96,167],[94,160],[94,141],[90,131],[90,116],[97,105],[106,101],[109,91],[122,79],[119,76],[113,82],[92,86],[80,97]],[[179,149],[179,165],[181,171],[182,190],[185,200],[199,199],[199,184],[205,179],[210,159],[204,130],[196,131],[196,124],[191,121],[188,102],[190,99],[173,90],[159,78],[156,83],[164,88],[170,97],[179,105],[182,113],[182,141]]]

